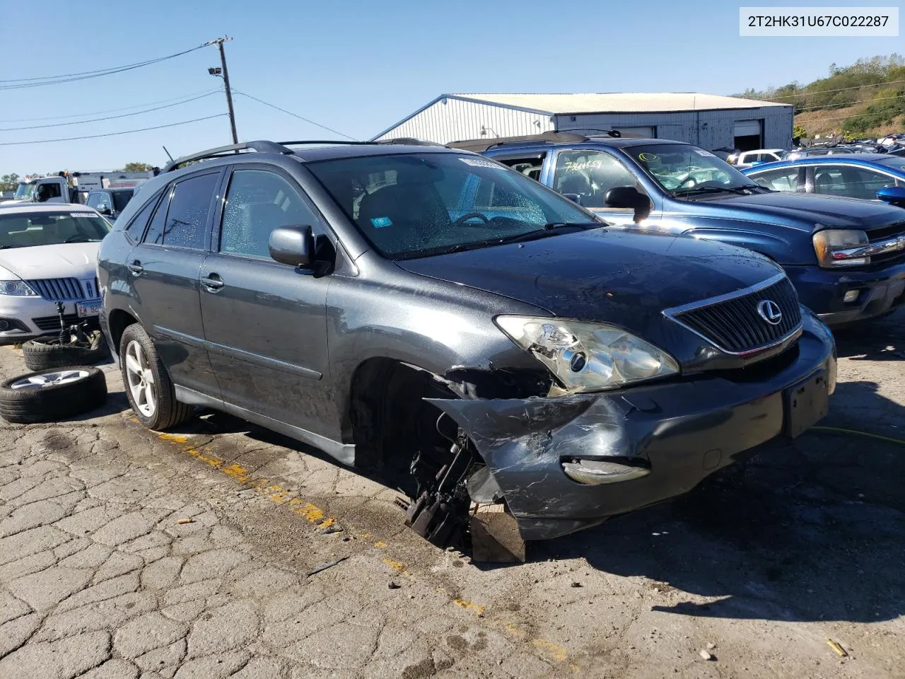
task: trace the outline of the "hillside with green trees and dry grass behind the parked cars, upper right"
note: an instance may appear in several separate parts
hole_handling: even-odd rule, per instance
[[[795,135],[879,137],[905,131],[905,58],[899,54],[859,59],[806,85],[790,82],[738,97],[795,105]]]

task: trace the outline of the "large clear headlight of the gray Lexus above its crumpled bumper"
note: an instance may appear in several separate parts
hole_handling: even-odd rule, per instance
[[[500,330],[528,349],[567,393],[614,389],[679,372],[676,359],[605,323],[497,316]]]

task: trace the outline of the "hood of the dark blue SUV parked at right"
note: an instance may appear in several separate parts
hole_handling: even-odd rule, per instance
[[[816,224],[870,231],[905,219],[900,207],[841,196],[779,192],[751,196],[722,194],[695,200],[693,205],[702,215],[725,215],[727,210],[737,208],[738,215],[735,216],[739,219],[778,222],[807,233],[813,231]]]

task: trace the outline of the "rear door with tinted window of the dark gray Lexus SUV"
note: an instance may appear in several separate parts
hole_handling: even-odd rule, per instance
[[[127,259],[132,303],[170,377],[211,397],[219,387],[205,349],[198,275],[221,177],[220,169],[208,170],[167,186]]]

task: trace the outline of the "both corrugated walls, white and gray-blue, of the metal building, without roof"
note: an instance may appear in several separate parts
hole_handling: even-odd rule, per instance
[[[575,119],[575,120],[573,120]],[[767,106],[758,109],[698,110],[659,113],[581,113],[575,116],[531,113],[458,99],[435,101],[409,120],[376,139],[414,137],[440,144],[461,139],[514,137],[552,129],[594,133],[595,129],[654,127],[659,139],[676,139],[702,148],[731,148],[737,120],[763,120],[764,148],[792,146],[793,109]]]

